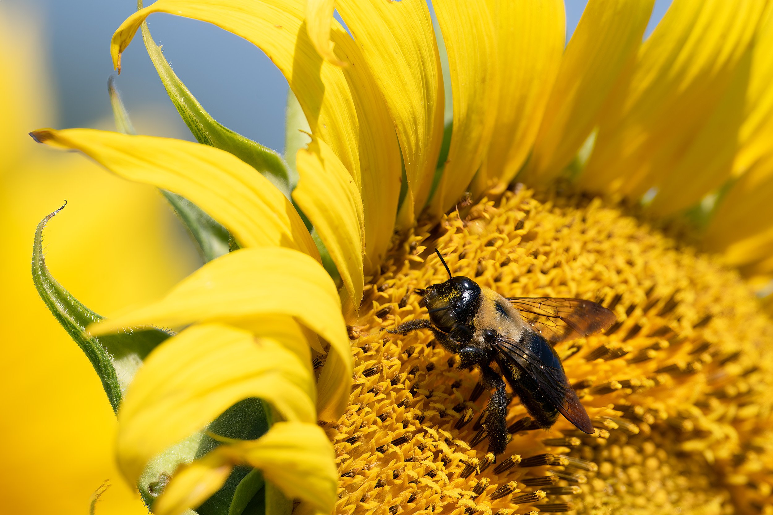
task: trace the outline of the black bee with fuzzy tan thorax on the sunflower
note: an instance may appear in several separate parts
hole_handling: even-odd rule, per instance
[[[438,249],[435,252],[448,280],[414,290],[421,295],[429,320],[410,320],[388,332],[429,329],[447,351],[458,354],[458,368],[480,368],[483,386],[493,390],[483,426],[495,454],[504,452],[511,438],[505,381],[533,418],[533,425],[550,428],[560,414],[591,434],[591,419],[569,385],[552,344],[605,330],[615,322],[615,314],[589,300],[506,298],[469,277],[453,276]]]

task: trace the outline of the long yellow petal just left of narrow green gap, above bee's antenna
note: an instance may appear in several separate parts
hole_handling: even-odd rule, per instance
[[[338,0],[337,7],[394,120],[412,223],[427,202],[443,139],[443,81],[427,2]]]

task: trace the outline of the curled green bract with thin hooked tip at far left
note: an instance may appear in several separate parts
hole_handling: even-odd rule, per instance
[[[83,306],[56,282],[49,273],[43,256],[43,229],[63,208],[64,205],[41,220],[35,231],[35,242],[32,246],[32,281],[53,316],[89,358],[102,381],[102,388],[113,411],[117,412],[123,391],[131,382],[142,360],[170,334],[152,329],[111,334],[97,339],[87,332],[86,327],[89,324],[102,320],[103,317]]]

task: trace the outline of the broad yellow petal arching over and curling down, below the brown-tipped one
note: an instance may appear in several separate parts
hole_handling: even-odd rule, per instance
[[[141,324],[181,326],[202,320],[233,320],[273,313],[289,315],[332,347],[335,390],[318,391],[318,411],[337,418],[349,397],[352,356],[335,283],[314,259],[291,249],[240,249],[214,259],[182,280],[164,299],[89,329],[105,334]],[[323,373],[325,370],[323,369]],[[333,408],[331,408],[333,407]],[[332,410],[332,411],[331,411]]]

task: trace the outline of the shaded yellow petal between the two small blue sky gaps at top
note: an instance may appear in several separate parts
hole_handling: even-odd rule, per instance
[[[642,42],[654,0],[590,0],[567,45],[527,177],[559,174],[598,122],[608,93]]]

